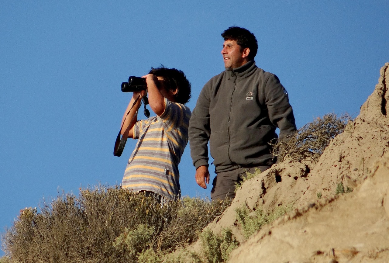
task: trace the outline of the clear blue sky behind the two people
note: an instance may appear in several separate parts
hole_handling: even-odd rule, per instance
[[[0,232],[58,192],[120,184],[135,146],[112,154],[129,75],[183,70],[193,109],[224,70],[220,34],[242,26],[258,39],[258,67],[289,92],[298,128],[329,112],[357,116],[389,61],[388,17],[389,2],[374,0],[3,1]],[[209,196],[194,174],[187,147],[182,194]]]

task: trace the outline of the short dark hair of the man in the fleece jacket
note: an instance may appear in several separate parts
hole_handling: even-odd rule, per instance
[[[246,28],[239,26],[230,26],[221,33],[224,40],[235,40],[241,49],[248,47],[250,49],[249,60],[253,60],[258,51],[258,42],[254,34]]]

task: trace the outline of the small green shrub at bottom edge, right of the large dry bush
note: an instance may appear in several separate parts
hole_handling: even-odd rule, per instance
[[[208,263],[219,263],[228,260],[231,251],[239,245],[230,229],[223,229],[219,236],[211,230],[205,230],[200,235],[203,253]]]

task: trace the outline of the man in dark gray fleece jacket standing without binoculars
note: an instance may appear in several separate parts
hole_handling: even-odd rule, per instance
[[[189,121],[189,145],[196,182],[209,184],[208,141],[216,177],[211,198],[235,197],[235,183],[245,172],[270,168],[268,144],[296,130],[285,88],[276,75],[256,67],[257,40],[249,30],[232,26],[222,34],[224,70],[208,81]]]

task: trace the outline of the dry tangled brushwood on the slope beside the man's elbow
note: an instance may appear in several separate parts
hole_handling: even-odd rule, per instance
[[[322,118],[317,117],[289,137],[271,144],[273,155],[277,156],[279,161],[289,159],[317,162],[330,140],[343,132],[350,119],[347,113],[340,117],[334,113],[326,114]]]

